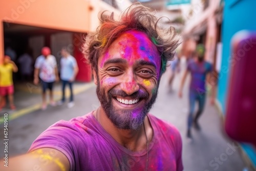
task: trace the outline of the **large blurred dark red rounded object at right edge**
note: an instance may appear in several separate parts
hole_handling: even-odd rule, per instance
[[[240,31],[232,39],[226,133],[256,146],[256,32]]]

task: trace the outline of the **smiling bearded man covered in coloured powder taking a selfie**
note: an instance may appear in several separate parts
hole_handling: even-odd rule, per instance
[[[119,21],[100,19],[83,52],[101,106],[50,126],[23,159],[40,166],[40,159],[48,160],[41,166],[47,170],[183,170],[178,130],[148,114],[179,37],[172,27],[155,27],[158,19],[139,3]]]

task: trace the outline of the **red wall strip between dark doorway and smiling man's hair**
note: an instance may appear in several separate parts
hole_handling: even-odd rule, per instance
[[[74,57],[77,61],[77,66],[79,71],[76,76],[77,81],[82,82],[91,82],[92,80],[92,71],[91,65],[88,64],[86,58],[84,58],[81,49],[84,43],[83,40],[84,34],[83,33],[75,33],[73,35],[73,47],[74,47]]]

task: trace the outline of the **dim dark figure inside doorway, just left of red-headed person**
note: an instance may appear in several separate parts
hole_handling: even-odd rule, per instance
[[[29,54],[29,49],[27,49],[24,54],[18,57],[17,63],[22,81],[29,81],[33,71],[33,59]]]

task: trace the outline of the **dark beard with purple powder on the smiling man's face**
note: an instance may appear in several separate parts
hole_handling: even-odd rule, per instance
[[[100,104],[106,113],[106,116],[117,127],[117,129],[121,130],[138,130],[139,127],[143,124],[145,116],[155,103],[158,94],[158,92],[155,91],[155,93],[152,95],[152,98],[149,100],[150,95],[141,89],[132,95],[127,95],[122,90],[111,89],[108,92],[108,95],[105,95],[104,89],[100,90],[99,84],[97,85],[96,93]],[[140,100],[144,100],[145,104],[136,110],[115,109],[112,100],[117,96],[122,98],[130,97],[132,99],[139,98]]]

